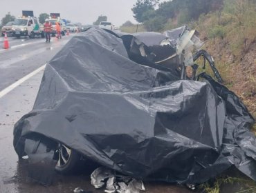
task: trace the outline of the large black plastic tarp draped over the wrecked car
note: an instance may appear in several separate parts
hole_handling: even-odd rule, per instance
[[[15,125],[19,156],[38,153],[28,147],[35,135],[137,179],[203,183],[235,165],[256,181],[246,106],[207,74],[180,80],[174,69],[153,68],[154,53],[136,61],[132,42],[148,41],[149,52],[150,40],[166,39],[140,35],[91,28],[73,37],[46,65],[32,112]]]

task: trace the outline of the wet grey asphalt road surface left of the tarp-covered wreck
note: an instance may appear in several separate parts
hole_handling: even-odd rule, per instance
[[[75,35],[75,34],[73,34]],[[45,187],[27,180],[26,160],[19,161],[12,147],[13,126],[30,112],[39,89],[44,65],[71,39],[15,39],[8,37],[10,49],[0,49],[0,192],[73,192],[75,187],[92,192],[88,174],[55,175],[53,185]],[[3,38],[0,38],[3,45]],[[146,192],[190,192],[185,187],[170,184],[145,183]]]

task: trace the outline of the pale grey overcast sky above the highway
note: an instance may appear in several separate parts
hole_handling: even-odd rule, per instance
[[[83,24],[92,24],[100,14],[116,26],[128,20],[136,23],[131,12],[136,0],[0,0],[0,3],[0,19],[8,12],[18,17],[22,10],[33,10],[35,17],[42,12],[60,12],[62,19]]]

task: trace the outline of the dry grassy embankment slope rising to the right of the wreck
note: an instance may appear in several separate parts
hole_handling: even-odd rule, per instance
[[[190,25],[201,33],[226,86],[256,117],[256,1],[224,0],[221,10]]]

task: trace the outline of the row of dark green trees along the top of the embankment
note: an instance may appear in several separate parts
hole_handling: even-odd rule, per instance
[[[148,31],[159,31],[170,20],[188,23],[201,14],[218,10],[222,5],[223,0],[172,0],[163,3],[159,0],[137,0],[131,10],[134,19],[143,23]]]

